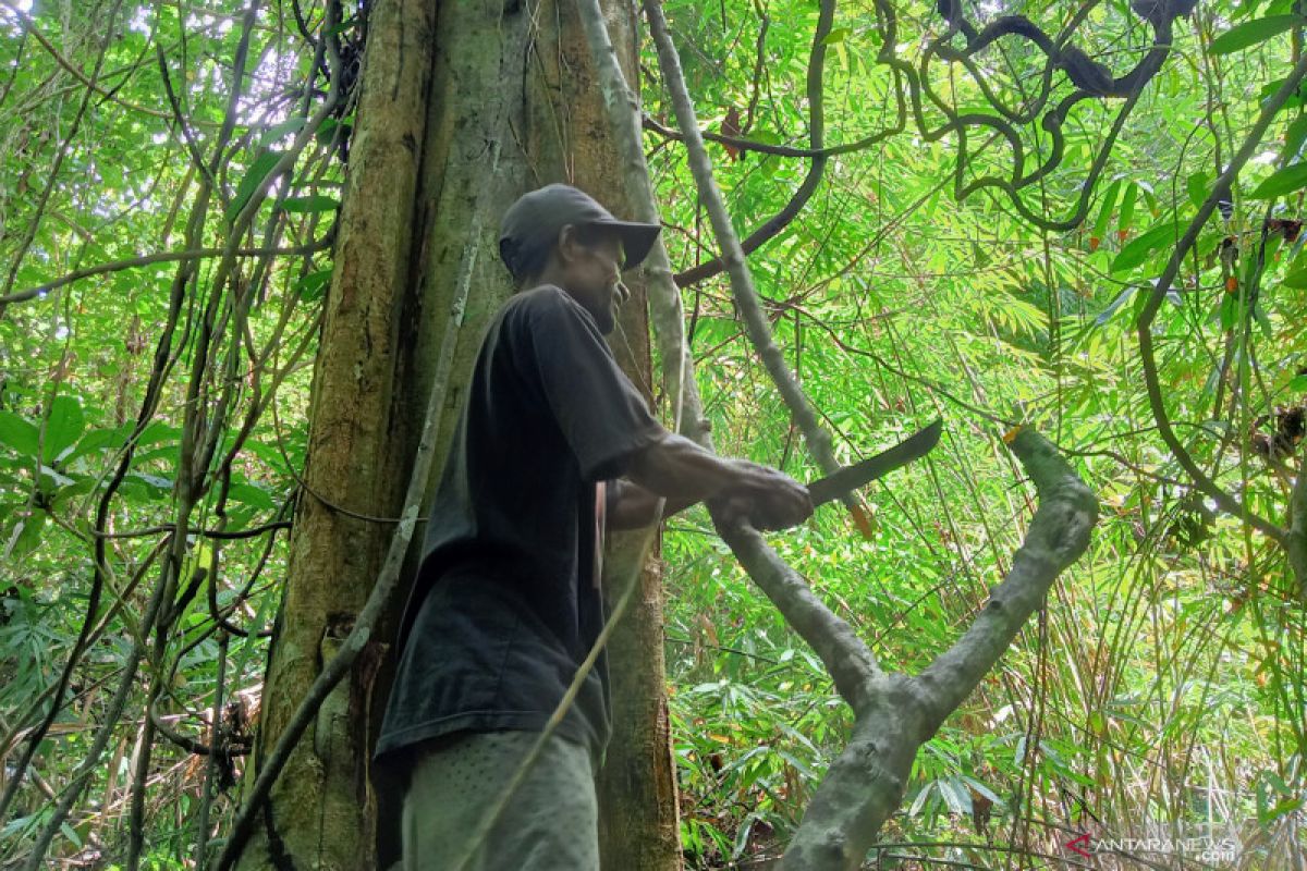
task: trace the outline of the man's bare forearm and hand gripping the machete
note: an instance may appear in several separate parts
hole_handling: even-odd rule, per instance
[[[638,451],[630,482],[621,482],[609,516],[614,529],[638,529],[701,501],[748,517],[759,529],[796,526],[813,513],[808,488],[789,475],[746,460],[727,460],[667,434]]]

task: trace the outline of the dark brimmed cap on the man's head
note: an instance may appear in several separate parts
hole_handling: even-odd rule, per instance
[[[508,272],[520,277],[528,264],[544,264],[569,223],[578,227],[612,227],[622,240],[626,262],[633,269],[644,260],[663,229],[656,223],[618,221],[593,197],[567,184],[546,184],[518,198],[503,215],[499,229],[499,256]]]

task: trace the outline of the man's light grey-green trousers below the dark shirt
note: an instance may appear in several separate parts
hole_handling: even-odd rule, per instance
[[[587,750],[553,736],[481,844],[471,844],[538,736],[459,733],[413,760],[404,871],[599,871],[599,807]]]

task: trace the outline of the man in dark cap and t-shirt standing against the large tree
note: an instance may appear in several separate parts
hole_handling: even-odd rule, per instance
[[[505,214],[499,253],[518,293],[471,379],[376,748],[408,773],[405,871],[446,871],[473,846],[575,678],[605,619],[605,522],[654,524],[660,498],[664,515],[720,500],[763,529],[812,513],[787,475],[664,430],[604,343],[627,298],[621,272],[659,229],[562,184]],[[609,722],[601,656],[467,868],[597,871]]]

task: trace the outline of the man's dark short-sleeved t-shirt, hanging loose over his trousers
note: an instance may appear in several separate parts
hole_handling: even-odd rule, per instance
[[[508,300],[431,507],[378,757],[544,727],[604,624],[596,484],[661,434],[580,304],[550,285]],[[609,721],[601,658],[558,734],[597,753]]]

